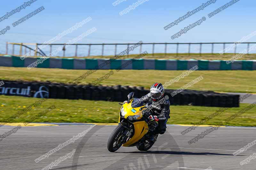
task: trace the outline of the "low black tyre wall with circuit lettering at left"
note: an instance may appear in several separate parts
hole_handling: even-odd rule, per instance
[[[0,80],[1,81],[1,80]],[[0,95],[14,95],[24,97],[39,97],[52,99],[83,99],[124,101],[130,92],[135,92],[134,97],[140,98],[148,94],[144,87],[121,86],[89,86],[66,85],[51,82],[18,82],[4,81],[0,87]],[[212,91],[184,90],[171,96],[174,90],[166,89],[171,105],[193,105],[209,107],[239,107],[239,95],[217,93]]]

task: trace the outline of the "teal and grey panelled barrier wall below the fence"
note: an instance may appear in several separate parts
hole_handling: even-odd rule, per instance
[[[39,58],[26,58],[4,55],[0,56],[0,66],[6,67],[27,67],[36,62]],[[116,59],[111,63],[104,65],[99,69],[109,70],[118,69],[122,64],[133,59]],[[37,65],[37,68],[60,68],[60,69],[79,69],[92,70],[97,65],[108,61],[108,59],[73,59],[73,58],[48,58],[43,63]],[[198,66],[198,70],[256,70],[256,60],[238,60],[227,64],[221,60],[154,60],[138,59],[133,60],[132,64],[123,68],[126,70],[189,70]]]

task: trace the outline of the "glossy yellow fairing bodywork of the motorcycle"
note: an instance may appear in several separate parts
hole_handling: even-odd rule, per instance
[[[140,117],[137,118],[137,120],[139,120],[142,118],[140,108],[143,106],[132,108],[131,106],[132,100],[130,101],[130,103],[125,103],[123,105],[124,112],[126,113],[124,115],[124,118],[127,119],[128,116],[140,115]],[[133,112],[132,112],[132,109],[134,109]],[[119,122],[120,122],[120,117],[119,117]],[[133,125],[134,125],[134,135],[131,139],[129,139],[126,143],[124,143],[123,146],[130,146],[135,142],[138,142],[148,132],[148,124],[145,121],[134,122]]]

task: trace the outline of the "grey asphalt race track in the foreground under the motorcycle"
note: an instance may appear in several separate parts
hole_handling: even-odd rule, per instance
[[[256,159],[243,166],[240,162],[255,152],[256,146],[238,156],[232,153],[256,139],[255,128],[219,128],[196,143],[188,140],[210,127],[197,127],[186,135],[180,132],[188,127],[168,126],[168,132],[158,137],[148,152],[136,147],[121,147],[116,153],[108,152],[107,141],[115,126],[94,126],[84,137],[77,139],[48,158],[36,163],[35,159],[49,152],[91,126],[22,127],[4,138],[1,144],[0,169],[38,170],[46,167],[76,149],[75,154],[52,169],[207,169],[255,170]],[[1,127],[0,134],[13,129]],[[170,133],[170,134],[169,134]]]

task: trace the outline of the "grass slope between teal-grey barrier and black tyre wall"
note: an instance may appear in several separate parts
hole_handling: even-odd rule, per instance
[[[0,67],[0,80],[20,81],[50,81],[58,83],[71,83],[72,80],[83,75],[89,70],[66,69],[40,69],[17,67]],[[97,80],[110,70],[97,70],[77,84],[89,84]],[[150,88],[155,82],[165,83],[179,76],[185,70],[113,70],[114,74],[103,80],[98,85],[135,85]],[[189,76],[180,79],[167,88],[178,89],[199,76],[203,80],[189,87],[193,90],[211,90],[216,92],[256,92],[256,70],[205,70],[194,71]]]

